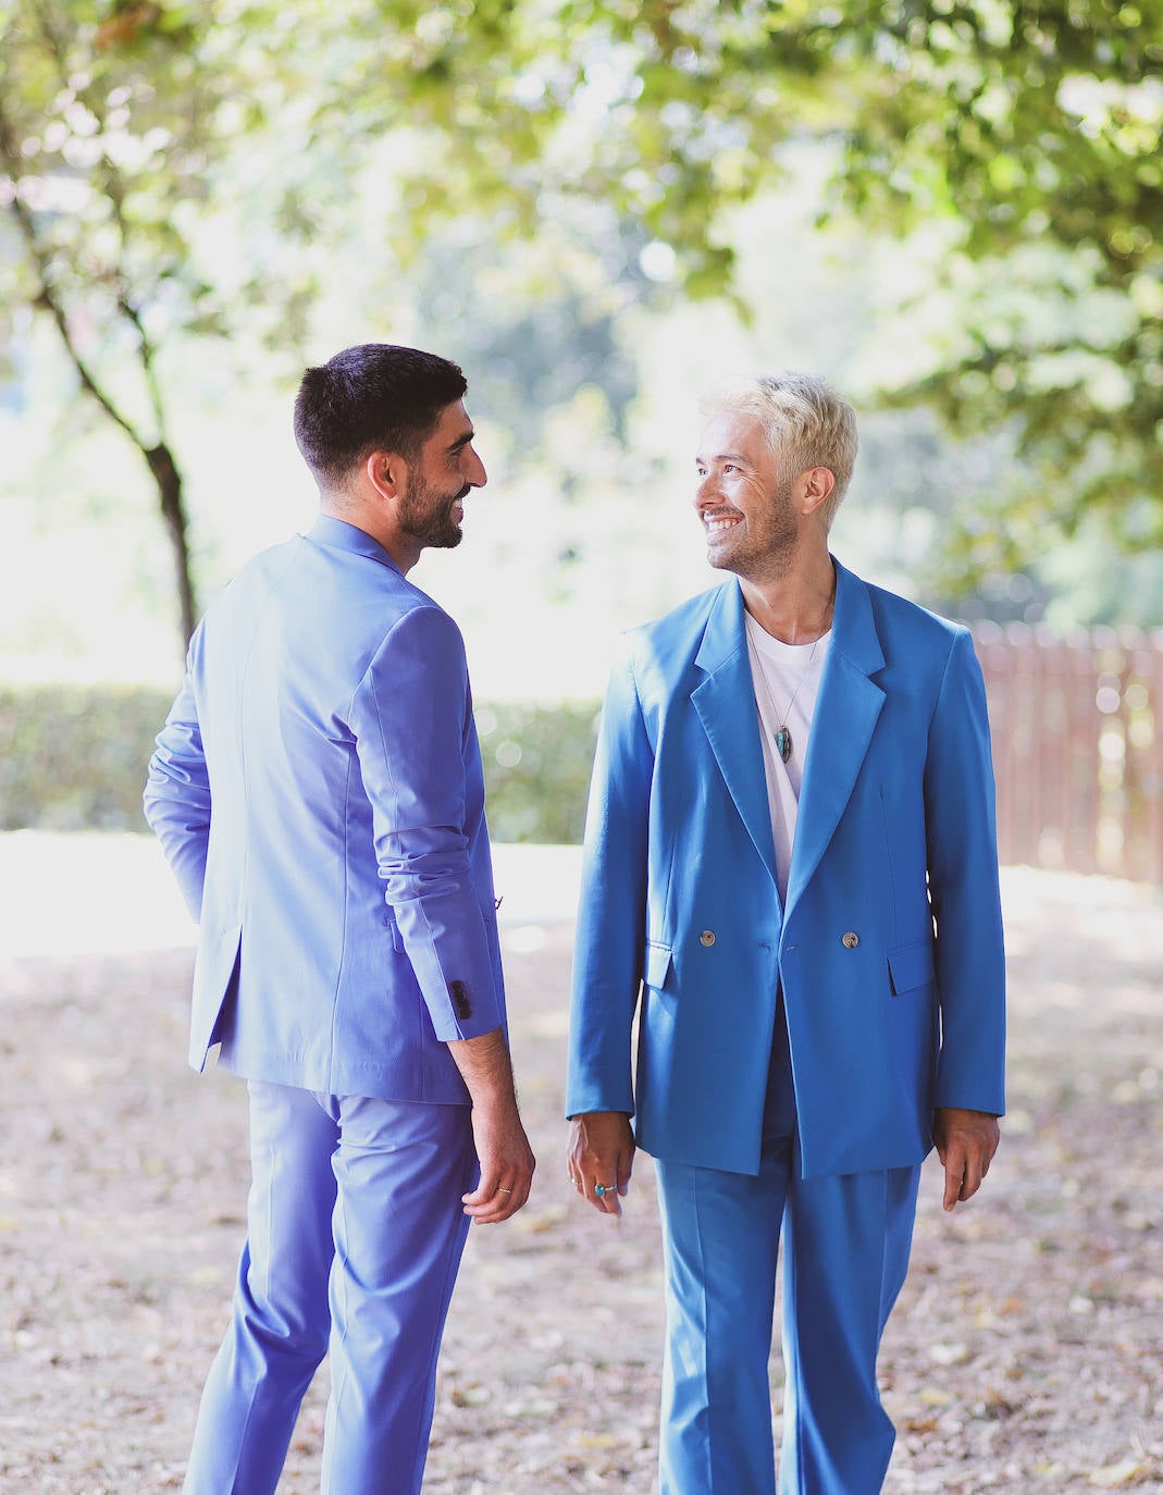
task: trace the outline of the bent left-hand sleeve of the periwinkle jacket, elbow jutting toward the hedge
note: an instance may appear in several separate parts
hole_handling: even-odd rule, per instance
[[[200,640],[194,634],[190,662]],[[161,842],[194,921],[202,912],[206,881],[211,794],[197,704],[187,668],[182,688],[157,736],[144,795],[145,819]]]

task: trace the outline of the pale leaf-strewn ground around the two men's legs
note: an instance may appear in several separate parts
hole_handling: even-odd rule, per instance
[[[943,1215],[927,1171],[882,1354],[886,1491],[1163,1492],[1163,901],[1022,869],[1005,897],[1011,1115],[972,1205]],[[505,931],[541,1168],[525,1212],[469,1241],[431,1495],[652,1489],[652,1174],[619,1224],[568,1186],[570,937]],[[0,1495],[181,1486],[247,1187],[242,1085],[182,1064],[188,979],[185,949],[0,961]],[[324,1399],[326,1369],[281,1495],[317,1489]]]

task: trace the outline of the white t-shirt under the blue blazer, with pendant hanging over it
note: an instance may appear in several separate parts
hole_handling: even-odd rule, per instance
[[[764,745],[767,803],[776,843],[776,882],[780,901],[786,901],[807,737],[816,710],[819,677],[828,658],[831,629],[812,644],[785,644],[761,628],[750,613],[746,614],[746,623],[750,677]],[[791,733],[791,756],[786,762],[776,746],[776,733],[780,727],[786,727]]]

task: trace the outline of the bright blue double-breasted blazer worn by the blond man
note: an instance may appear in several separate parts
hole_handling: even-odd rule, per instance
[[[972,638],[839,564],[836,576],[786,907],[738,583],[628,634],[611,673],[567,1109],[635,1114],[661,1159],[758,1172],[780,984],[804,1177],[918,1163],[934,1106],[1005,1109]]]

